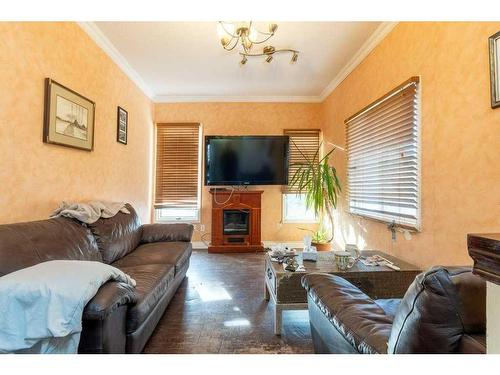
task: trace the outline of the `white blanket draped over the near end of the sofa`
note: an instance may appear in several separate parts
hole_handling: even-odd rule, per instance
[[[0,353],[76,353],[83,309],[108,280],[135,286],[119,269],[53,260],[0,277]]]

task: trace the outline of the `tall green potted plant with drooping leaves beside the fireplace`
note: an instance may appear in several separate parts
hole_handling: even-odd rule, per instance
[[[295,146],[297,147],[297,146]],[[313,246],[319,251],[331,249],[333,240],[333,215],[332,209],[337,208],[338,196],[341,191],[340,180],[335,167],[330,166],[329,158],[335,148],[319,159],[321,144],[316,150],[312,160],[300,151],[304,162],[293,163],[297,170],[292,176],[290,186],[294,187],[297,194],[304,194],[306,207],[313,209],[320,219],[320,229],[313,232]],[[331,233],[325,229],[325,217],[330,222]]]

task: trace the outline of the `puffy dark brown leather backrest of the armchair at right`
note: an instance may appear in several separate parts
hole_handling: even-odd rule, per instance
[[[389,353],[455,353],[465,333],[484,332],[485,305],[485,281],[470,267],[433,267],[401,301]]]

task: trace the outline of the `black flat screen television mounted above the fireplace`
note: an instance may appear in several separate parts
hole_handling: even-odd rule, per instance
[[[288,152],[288,136],[206,136],[205,185],[286,185]]]

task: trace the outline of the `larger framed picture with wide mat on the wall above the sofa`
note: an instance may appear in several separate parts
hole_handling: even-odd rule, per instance
[[[43,141],[92,151],[95,103],[77,92],[45,79]]]

